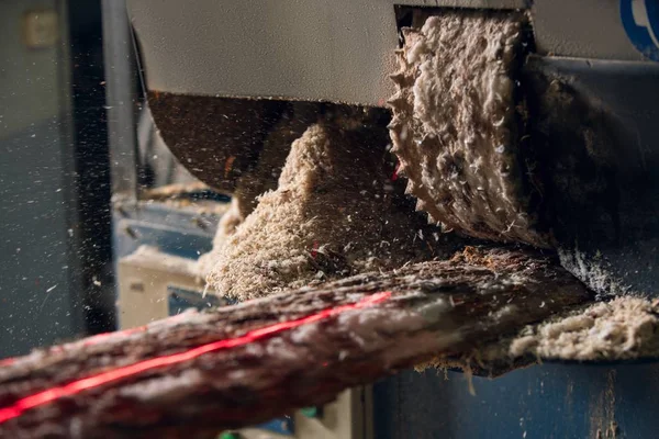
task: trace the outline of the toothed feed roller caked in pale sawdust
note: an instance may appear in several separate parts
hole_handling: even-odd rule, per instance
[[[433,221],[545,247],[527,215],[517,164],[524,22],[510,12],[446,11],[407,30],[392,77],[390,127],[407,190]]]

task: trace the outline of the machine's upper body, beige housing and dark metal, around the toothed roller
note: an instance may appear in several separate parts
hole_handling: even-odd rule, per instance
[[[326,102],[390,108],[404,30],[420,26],[421,15],[473,10],[524,22],[515,80],[527,131],[512,159],[515,196],[543,238],[506,234],[478,217],[460,225],[431,212],[432,219],[480,238],[557,248],[563,266],[601,294],[652,294],[659,281],[656,1],[129,1],[163,138],[196,177],[228,193],[258,161],[268,133],[287,116],[295,120],[298,102],[319,105],[312,111]],[[418,183],[413,170],[406,175]]]

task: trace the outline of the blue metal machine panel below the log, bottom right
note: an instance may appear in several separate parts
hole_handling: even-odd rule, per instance
[[[377,439],[645,439],[659,430],[659,365],[545,363],[495,380],[406,371],[373,387]]]

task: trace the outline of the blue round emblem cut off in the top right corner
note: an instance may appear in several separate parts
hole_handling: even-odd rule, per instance
[[[659,0],[621,0],[621,19],[638,52],[659,61]]]

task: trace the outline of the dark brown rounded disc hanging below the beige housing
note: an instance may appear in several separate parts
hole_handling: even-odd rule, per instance
[[[149,91],[158,132],[174,156],[196,178],[233,193],[256,167],[263,145],[287,103]]]

